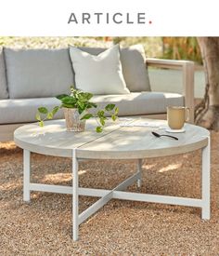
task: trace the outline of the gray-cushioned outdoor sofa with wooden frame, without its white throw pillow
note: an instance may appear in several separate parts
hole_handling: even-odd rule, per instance
[[[81,47],[98,55],[103,48]],[[166,118],[166,107],[185,105],[194,120],[194,64],[192,61],[146,59],[142,46],[121,49],[122,74],[128,94],[95,95],[99,105],[115,103],[120,116],[144,115]],[[148,67],[182,71],[182,94],[151,91]],[[19,126],[35,122],[39,106],[52,108],[59,104],[56,95],[68,93],[75,83],[70,50],[13,49],[0,50],[0,141],[13,140]],[[77,86],[77,85],[76,85]],[[61,111],[55,118],[63,118]]]

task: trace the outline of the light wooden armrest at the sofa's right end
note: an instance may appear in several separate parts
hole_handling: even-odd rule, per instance
[[[148,58],[148,67],[166,68],[182,71],[183,95],[185,105],[190,109],[190,121],[194,123],[194,62],[193,61],[174,61]]]

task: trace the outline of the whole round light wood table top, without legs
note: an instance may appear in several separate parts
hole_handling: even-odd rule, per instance
[[[121,127],[121,121],[118,121],[110,123],[104,132],[97,133],[96,120],[88,120],[84,132],[69,132],[66,131],[65,120],[54,120],[45,122],[44,128],[34,123],[16,129],[14,141],[20,148],[43,155],[71,157],[72,149],[77,148],[78,158],[139,159],[198,150],[207,146],[210,136],[207,129],[186,124],[186,132],[173,134],[178,137],[178,141],[166,137],[156,138],[151,130],[170,134],[164,129],[166,121],[135,117],[130,122],[156,122],[162,128]]]

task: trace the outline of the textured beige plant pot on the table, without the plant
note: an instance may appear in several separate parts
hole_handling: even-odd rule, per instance
[[[67,131],[84,131],[85,121],[81,120],[82,115],[77,109],[63,108]]]

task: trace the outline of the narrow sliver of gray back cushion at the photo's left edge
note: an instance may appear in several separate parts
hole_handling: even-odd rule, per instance
[[[6,66],[4,52],[0,49],[0,99],[7,99],[8,92],[6,89]]]

